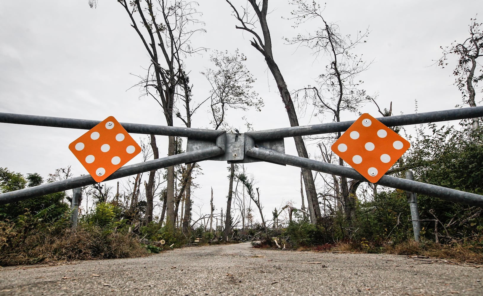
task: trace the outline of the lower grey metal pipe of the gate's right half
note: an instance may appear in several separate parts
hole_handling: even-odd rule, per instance
[[[331,163],[326,163],[322,161],[317,161],[313,159],[298,157],[294,155],[288,155],[283,153],[278,153],[272,150],[266,150],[261,148],[253,147],[245,152],[245,155],[250,157],[256,157],[269,162],[287,164],[289,166],[312,169],[321,171],[324,173],[334,174],[338,176],[344,176],[352,178],[355,180],[367,181],[361,174],[359,174],[355,169],[343,167],[339,165],[334,165]],[[416,181],[411,181],[408,179],[401,179],[397,177],[392,177],[384,175],[377,184],[398,188],[414,193],[421,193],[428,196],[439,197],[441,199],[446,199],[454,202],[474,205],[483,207],[483,196],[459,191],[455,189],[445,188],[441,186],[431,185],[427,183],[421,183]]]

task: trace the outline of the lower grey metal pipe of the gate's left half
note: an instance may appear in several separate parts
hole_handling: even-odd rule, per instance
[[[200,149],[197,151],[186,152],[178,155],[171,155],[163,158],[158,158],[155,160],[150,160],[142,163],[137,163],[134,165],[129,165],[116,170],[111,176],[109,176],[105,181],[114,180],[122,177],[131,176],[137,173],[162,169],[170,166],[195,162],[200,159],[205,159],[208,157],[218,156],[225,153],[225,150],[221,147],[225,147],[225,144],[221,144],[224,139],[217,140],[217,146],[213,146],[206,149]],[[29,187],[25,189],[20,189],[16,191],[11,191],[7,193],[0,194],[0,205],[6,204],[14,201],[24,200],[31,197],[39,197],[50,193],[56,193],[68,189],[78,188],[81,186],[87,186],[95,184],[96,181],[92,179],[90,175],[84,175],[81,177],[70,178],[67,180],[62,180],[58,182],[43,184],[39,186]]]

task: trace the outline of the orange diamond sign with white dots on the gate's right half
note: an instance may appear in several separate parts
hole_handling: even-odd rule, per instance
[[[331,149],[369,182],[376,183],[409,146],[406,139],[364,113]]]

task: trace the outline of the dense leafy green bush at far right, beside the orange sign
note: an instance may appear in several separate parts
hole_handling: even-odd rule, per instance
[[[483,194],[483,145],[481,130],[471,130],[462,121],[455,127],[428,125],[430,132],[419,130],[418,141],[407,155],[406,166],[413,169],[414,180]],[[418,195],[421,219],[438,219],[439,233],[446,241],[477,241],[483,229],[482,209],[437,197]],[[441,227],[444,225],[444,227]],[[423,236],[434,240],[434,222],[423,222]],[[443,229],[441,229],[443,228]]]

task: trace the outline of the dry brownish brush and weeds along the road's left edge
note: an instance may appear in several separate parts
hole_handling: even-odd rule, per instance
[[[145,254],[137,240],[93,224],[71,229],[68,216],[48,221],[44,212],[27,211],[0,221],[0,266],[34,264],[46,260],[125,258]]]

